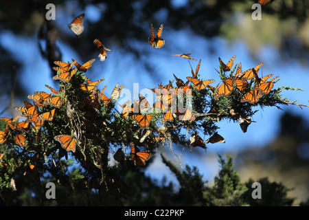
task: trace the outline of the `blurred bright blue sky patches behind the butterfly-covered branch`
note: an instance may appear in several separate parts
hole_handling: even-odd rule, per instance
[[[88,10],[91,10],[88,9]],[[95,10],[93,10],[95,11]],[[62,14],[62,13],[61,13]],[[89,13],[90,14],[90,13]],[[95,14],[92,17],[89,16],[89,20],[98,19]],[[64,30],[71,32],[67,28],[66,23],[71,21],[70,18],[60,17],[60,21],[64,22]],[[87,27],[85,28],[87,32]],[[308,82],[309,74],[308,67],[302,66],[297,61],[284,62],[279,58],[279,54],[274,47],[265,45],[258,54],[258,61],[253,60],[249,56],[249,50],[247,45],[241,42],[235,42],[229,45],[224,39],[216,37],[211,40],[207,40],[201,36],[194,35],[190,30],[174,31],[169,30],[168,27],[163,29],[163,36],[165,39],[165,45],[161,49],[155,49],[148,45],[147,39],[143,44],[136,43],[136,47],[141,51],[145,51],[148,54],[148,60],[153,61],[157,66],[157,74],[160,76],[159,81],[154,81],[148,74],[145,74],[146,70],[143,65],[129,54],[125,54],[121,48],[117,48],[115,45],[105,45],[110,48],[112,52],[108,52],[108,58],[106,61],[101,62],[98,59],[98,52],[94,50],[93,54],[90,54],[89,59],[96,58],[93,67],[87,72],[87,76],[91,80],[98,80],[105,78],[105,81],[101,83],[100,89],[108,83],[108,87],[104,94],[111,94],[113,87],[116,83],[120,85],[124,84],[124,88],[133,88],[133,83],[139,83],[139,89],[153,88],[154,84],[163,83],[168,84],[168,80],[172,80],[172,74],[175,74],[178,78],[185,79],[186,76],[190,76],[191,68],[187,60],[181,57],[172,56],[172,54],[192,53],[192,57],[197,60],[201,59],[200,74],[202,78],[214,78],[216,82],[220,80],[216,69],[218,69],[218,57],[222,58],[222,61],[227,62],[233,55],[237,55],[234,63],[242,63],[242,69],[246,70],[251,67],[255,67],[261,62],[264,65],[261,67],[259,74],[266,76],[267,74],[274,74],[274,76],[280,76],[282,80],[279,80],[275,84],[275,87],[290,86],[299,87],[304,91],[283,91],[284,97],[290,98],[290,100],[298,100],[301,104],[309,104],[308,94]],[[98,36],[100,39],[100,36]],[[176,41],[175,41],[176,39]],[[14,42],[19,42],[18,45]],[[45,84],[54,87],[54,80],[50,77],[49,66],[47,61],[41,58],[41,54],[38,51],[36,36],[23,37],[15,36],[12,32],[2,32],[0,35],[0,43],[9,50],[14,56],[23,62],[23,68],[19,73],[19,77],[23,78],[23,84],[27,87],[27,95],[33,94],[34,91],[48,91]],[[135,43],[133,41],[133,43]],[[62,61],[71,61],[71,58],[77,58],[76,52],[74,52],[69,46],[65,45],[62,41],[58,42],[62,50]],[[215,48],[214,52],[209,52],[209,48]],[[151,52],[149,54],[149,52]],[[80,61],[84,63],[86,61]],[[198,61],[190,61],[193,69],[195,69]],[[111,74],[113,72],[113,74]],[[28,79],[31,79],[33,83],[30,84]],[[218,83],[214,83],[216,85]],[[26,98],[26,96],[25,96]],[[119,99],[121,100],[121,98]],[[21,100],[22,103],[23,100]],[[16,103],[17,104],[17,103]],[[2,107],[6,105],[3,104]],[[251,123],[247,133],[242,133],[238,123],[222,121],[218,123],[220,129],[218,133],[225,137],[225,144],[208,144],[207,153],[203,149],[196,149],[196,153],[189,153],[187,148],[176,151],[176,155],[180,155],[181,164],[185,166],[197,166],[201,173],[204,174],[204,179],[209,182],[214,180],[214,175],[218,172],[218,157],[217,153],[224,155],[229,153],[233,155],[233,159],[237,159],[237,153],[244,151],[245,148],[256,148],[264,146],[268,142],[271,142],[277,135],[279,128],[279,118],[285,111],[295,113],[295,115],[302,115],[305,118],[309,118],[308,108],[300,109],[297,106],[282,106],[284,111],[281,111],[275,107],[259,109],[258,113],[253,116],[253,120],[256,123]],[[2,109],[0,109],[1,111]],[[206,140],[208,137],[202,137]],[[168,149],[168,146],[165,146]],[[168,149],[168,155],[170,159],[174,159],[176,164],[179,164],[178,157]],[[159,153],[155,157],[155,162],[150,166],[147,171],[148,174],[153,177],[161,179],[163,175],[168,175],[168,179],[171,177],[170,171],[161,163]]]

